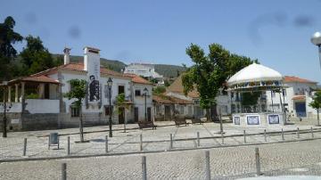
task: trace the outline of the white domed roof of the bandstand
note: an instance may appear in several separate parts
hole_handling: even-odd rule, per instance
[[[281,81],[282,75],[276,70],[272,70],[266,66],[252,63],[235,73],[235,75],[228,79],[228,86],[233,86],[240,83],[250,83],[259,81]]]

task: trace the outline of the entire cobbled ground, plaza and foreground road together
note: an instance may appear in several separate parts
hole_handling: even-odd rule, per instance
[[[204,179],[206,150],[210,151],[211,177],[235,179],[254,176],[255,147],[259,147],[265,176],[321,176],[321,129],[307,122],[268,127],[267,141],[264,128],[224,124],[224,142],[216,123],[175,127],[172,122],[157,122],[157,125],[156,130],[128,125],[126,133],[122,125],[113,126],[108,153],[105,153],[108,127],[86,127],[85,139],[89,143],[75,143],[79,139],[78,128],[9,133],[8,138],[0,138],[0,179],[59,179],[62,162],[67,163],[69,179],[142,179],[142,156],[147,159],[148,179]],[[313,139],[310,127],[314,128]],[[56,147],[48,150],[47,135],[51,132],[61,135],[60,150]],[[140,135],[143,135],[143,151],[140,151]],[[68,136],[73,159],[66,157]],[[25,137],[27,153],[22,156]],[[45,160],[48,157],[59,159]]]

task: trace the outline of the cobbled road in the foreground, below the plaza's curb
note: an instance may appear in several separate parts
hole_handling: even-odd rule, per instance
[[[210,149],[212,179],[237,179],[255,173],[255,146]],[[321,176],[321,140],[259,145],[264,176]],[[142,179],[141,154],[0,163],[0,179]],[[148,179],[204,179],[203,150],[145,154]]]

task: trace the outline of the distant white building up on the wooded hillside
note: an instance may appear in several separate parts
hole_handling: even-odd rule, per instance
[[[124,73],[136,74],[144,78],[155,78],[158,80],[158,85],[164,85],[163,76],[155,71],[153,64],[131,63],[125,67]]]

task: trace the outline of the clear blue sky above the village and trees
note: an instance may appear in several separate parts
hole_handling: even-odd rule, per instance
[[[12,16],[23,37],[40,37],[51,53],[82,55],[85,46],[111,60],[187,66],[189,45],[218,43],[258,59],[283,75],[321,82],[317,46],[321,0],[10,0],[0,22]],[[25,42],[15,47],[21,51]]]

